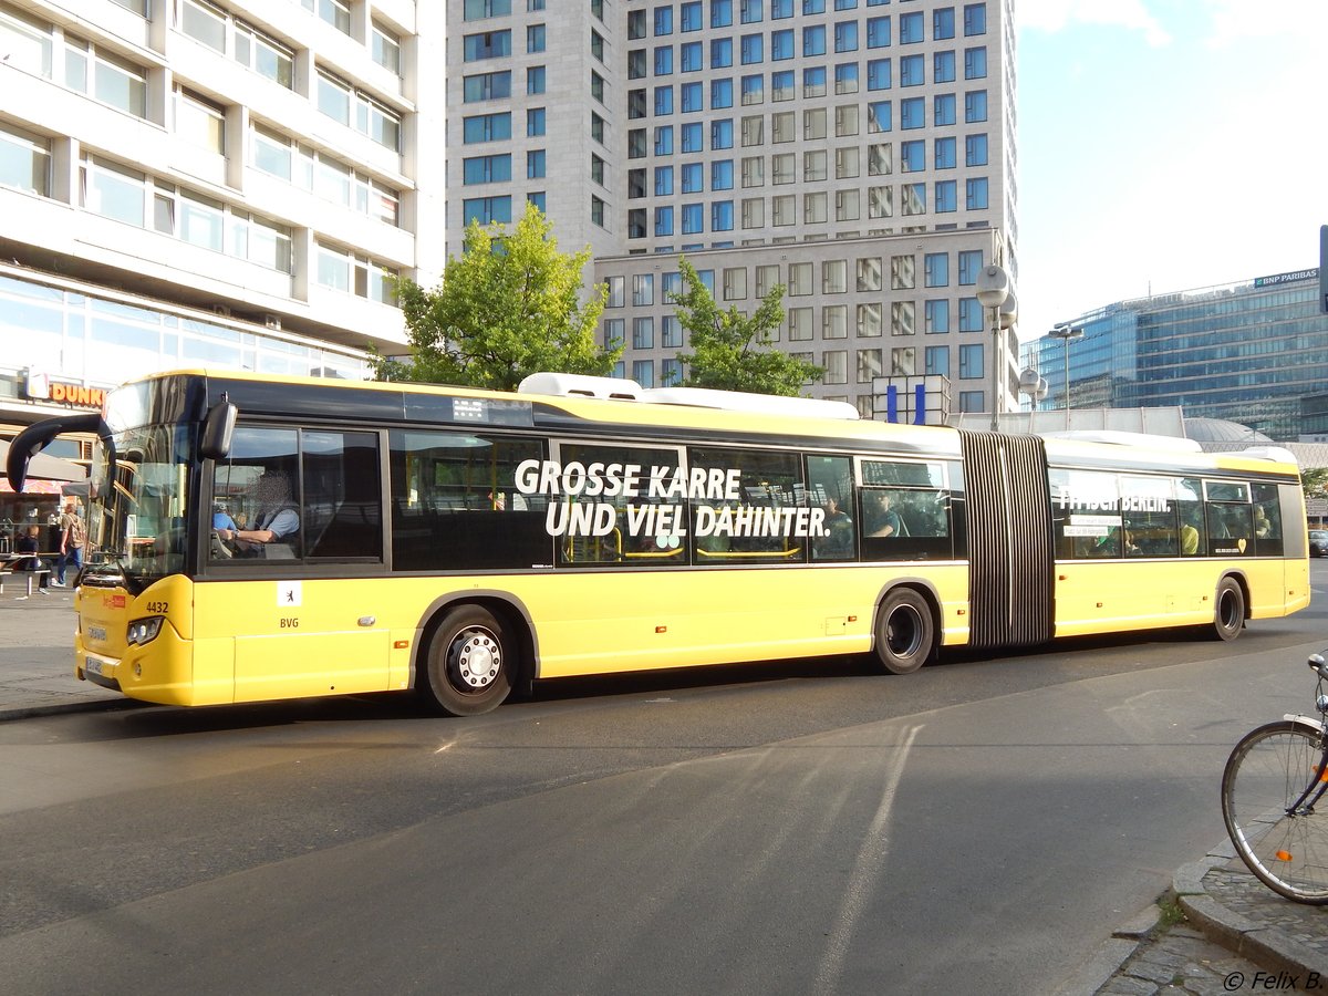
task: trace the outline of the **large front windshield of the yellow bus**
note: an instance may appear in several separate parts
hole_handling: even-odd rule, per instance
[[[98,444],[90,538],[105,563],[92,567],[88,580],[114,572],[131,591],[141,591],[185,570],[191,437],[186,425],[118,432],[114,474],[108,473],[108,448]]]

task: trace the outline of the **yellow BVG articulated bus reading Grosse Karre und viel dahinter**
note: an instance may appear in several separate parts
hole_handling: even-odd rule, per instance
[[[537,374],[517,393],[146,377],[96,432],[80,679],[210,705],[1194,625],[1309,603],[1283,450],[858,421],[849,405]]]

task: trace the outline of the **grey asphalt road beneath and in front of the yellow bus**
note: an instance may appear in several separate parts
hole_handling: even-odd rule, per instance
[[[951,660],[0,724],[23,993],[1041,993],[1222,839],[1319,602]]]

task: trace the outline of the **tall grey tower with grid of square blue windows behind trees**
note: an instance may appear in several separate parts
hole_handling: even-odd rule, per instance
[[[870,416],[872,377],[943,373],[991,410],[975,283],[988,263],[1017,276],[1011,0],[458,8],[449,243],[539,205],[592,248],[620,376],[683,374],[685,255],[724,307],[788,288],[778,348],[826,369],[807,393]]]

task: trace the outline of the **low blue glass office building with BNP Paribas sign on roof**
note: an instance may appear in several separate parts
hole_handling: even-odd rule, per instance
[[[1293,442],[1303,401],[1328,380],[1319,271],[1118,301],[1074,319],[1077,340],[1044,336],[1024,363],[1048,382],[1038,409],[1177,405]]]

